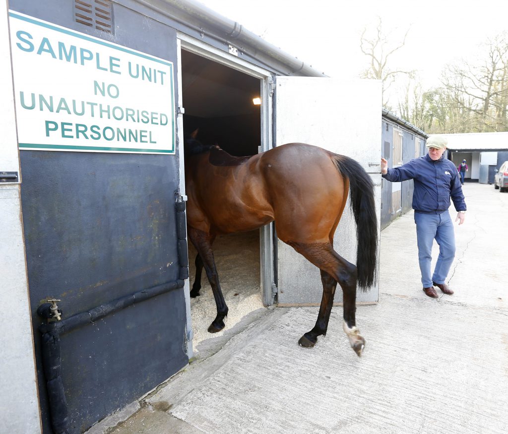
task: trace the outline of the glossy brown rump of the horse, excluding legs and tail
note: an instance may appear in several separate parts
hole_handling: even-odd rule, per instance
[[[282,241],[321,242],[333,235],[348,189],[334,156],[304,143],[281,145],[263,154],[263,177]]]

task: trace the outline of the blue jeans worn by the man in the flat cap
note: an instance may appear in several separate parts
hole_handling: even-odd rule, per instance
[[[450,213],[420,214],[415,212],[416,235],[418,239],[418,261],[422,273],[424,288],[432,286],[432,282],[445,283],[453,259],[455,258],[455,231]],[[434,274],[430,274],[432,260],[432,244],[434,239],[439,245]]]

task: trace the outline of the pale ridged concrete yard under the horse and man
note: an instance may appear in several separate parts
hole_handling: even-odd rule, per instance
[[[453,296],[421,289],[412,212],[382,232],[379,303],[357,309],[361,358],[341,307],[313,349],[297,341],[316,307],[265,309],[212,356],[88,432],[506,432],[508,193],[467,183],[464,194]]]

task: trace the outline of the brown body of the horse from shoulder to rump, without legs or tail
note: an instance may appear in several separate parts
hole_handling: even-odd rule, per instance
[[[319,232],[309,236],[328,237],[344,196],[332,155],[291,143],[234,166],[211,164],[208,154],[194,156],[186,165],[187,221],[219,234],[253,230],[273,220],[281,229],[306,223]]]

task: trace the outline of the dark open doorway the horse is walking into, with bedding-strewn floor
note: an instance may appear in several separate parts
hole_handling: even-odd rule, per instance
[[[204,144],[217,144],[233,156],[258,153],[261,144],[261,80],[195,53],[181,50],[181,89],[184,135],[199,129]],[[260,276],[260,234],[253,231],[218,236],[213,244],[221,289],[229,306],[226,327],[207,331],[216,315],[215,301],[203,272],[201,295],[190,299],[193,347],[198,357],[264,311]],[[196,250],[189,243],[189,284],[195,280]]]

